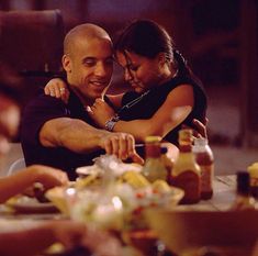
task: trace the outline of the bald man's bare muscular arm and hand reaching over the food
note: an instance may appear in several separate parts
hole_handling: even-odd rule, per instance
[[[40,142],[45,147],[66,147],[79,154],[103,148],[121,159],[132,157],[143,163],[135,152],[135,141],[131,134],[110,133],[78,119],[58,118],[47,121],[40,131]]]

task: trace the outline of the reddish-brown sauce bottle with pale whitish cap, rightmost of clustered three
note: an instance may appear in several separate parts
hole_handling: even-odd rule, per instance
[[[193,153],[201,168],[201,199],[211,199],[213,196],[214,157],[207,140],[194,138]]]

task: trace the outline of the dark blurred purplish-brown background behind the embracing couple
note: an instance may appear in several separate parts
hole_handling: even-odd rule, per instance
[[[31,10],[55,11],[38,18]],[[30,86],[26,102],[60,70],[69,29],[92,22],[115,38],[138,18],[164,25],[203,81],[210,143],[220,163],[229,162],[236,170],[258,162],[257,0],[1,0],[0,58]],[[119,67],[113,80],[110,92],[126,89]]]

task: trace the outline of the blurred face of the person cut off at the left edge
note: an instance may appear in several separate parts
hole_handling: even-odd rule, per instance
[[[9,140],[14,137],[20,122],[20,109],[11,99],[0,94],[0,156],[9,149]]]

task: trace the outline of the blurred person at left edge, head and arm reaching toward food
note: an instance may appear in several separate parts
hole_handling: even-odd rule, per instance
[[[0,159],[8,153],[10,144],[18,133],[20,124],[19,77],[5,65],[0,64]],[[48,189],[66,185],[68,178],[64,171],[46,166],[30,166],[9,177],[0,178],[0,203],[10,197],[23,192],[34,182],[41,182]]]

